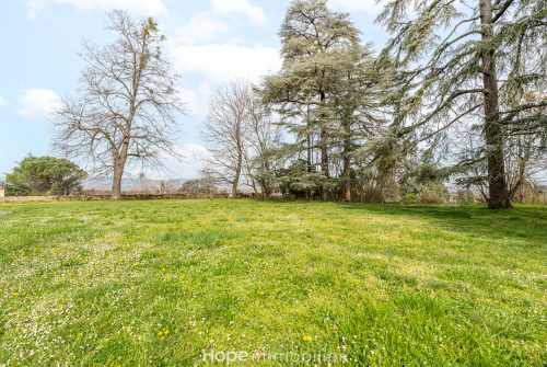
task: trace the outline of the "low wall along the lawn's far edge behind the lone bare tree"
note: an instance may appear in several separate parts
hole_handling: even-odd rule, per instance
[[[230,194],[213,194],[213,198],[228,198]],[[121,195],[123,200],[164,200],[164,199],[196,199],[210,198],[209,194],[137,194]],[[94,202],[109,200],[110,195],[70,195],[70,196],[4,196],[0,203],[11,202]]]

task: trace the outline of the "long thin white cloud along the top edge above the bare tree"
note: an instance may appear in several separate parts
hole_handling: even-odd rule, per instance
[[[137,15],[159,15],[167,11],[162,0],[25,0],[28,19],[35,20],[50,4],[69,4],[85,11],[124,9]]]

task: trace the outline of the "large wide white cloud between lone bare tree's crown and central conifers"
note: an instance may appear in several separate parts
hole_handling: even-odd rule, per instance
[[[278,49],[261,45],[256,45],[254,48],[235,44],[173,46],[171,55],[179,72],[202,73],[213,82],[223,82],[237,77],[256,81],[268,71],[281,68]]]

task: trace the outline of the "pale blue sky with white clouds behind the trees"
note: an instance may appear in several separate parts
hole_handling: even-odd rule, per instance
[[[170,175],[196,176],[202,149],[199,125],[211,91],[226,80],[257,80],[279,69],[279,26],[290,1],[283,0],[1,0],[0,1],[0,176],[27,153],[54,154],[48,115],[59,98],[74,93],[83,61],[83,38],[112,39],[105,12],[128,10],[153,16],[167,36],[164,55],[183,77],[188,114],[181,118],[179,149],[185,163],[166,160]],[[330,0],[350,12],[364,42],[380,49],[387,39],[374,24],[374,0]]]

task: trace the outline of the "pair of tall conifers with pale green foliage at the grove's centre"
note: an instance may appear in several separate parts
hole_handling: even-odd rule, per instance
[[[293,179],[303,175],[296,182],[319,174],[323,199],[344,191],[351,200],[354,152],[382,123],[374,116],[372,50],[349,14],[322,0],[292,1],[279,35],[283,66],[265,78],[261,94],[291,139],[281,148],[284,168],[305,161],[304,170],[291,170]]]

